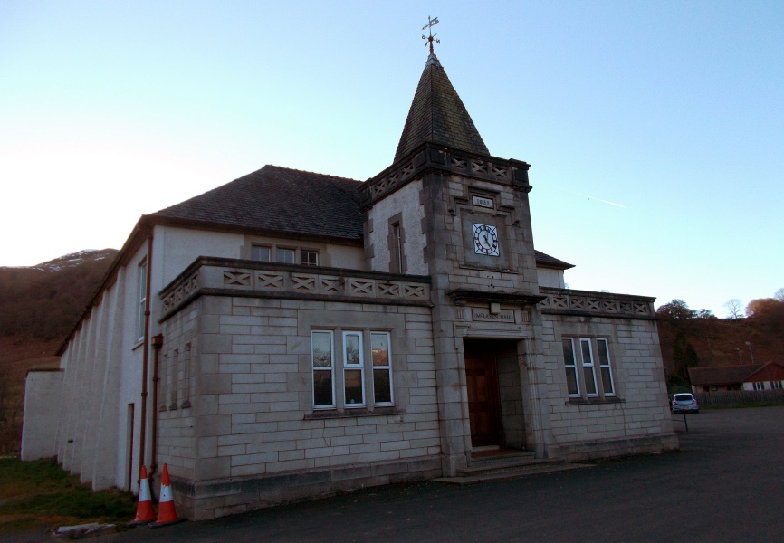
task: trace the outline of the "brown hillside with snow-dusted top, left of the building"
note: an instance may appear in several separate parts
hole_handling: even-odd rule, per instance
[[[117,251],[81,251],[32,267],[0,267],[0,453],[18,448],[24,376],[57,367],[71,332]]]

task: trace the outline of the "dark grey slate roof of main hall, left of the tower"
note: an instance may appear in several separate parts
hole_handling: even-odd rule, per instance
[[[362,240],[360,185],[353,179],[267,165],[148,216],[357,241]]]

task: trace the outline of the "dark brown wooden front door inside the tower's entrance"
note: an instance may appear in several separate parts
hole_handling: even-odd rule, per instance
[[[501,444],[501,405],[495,352],[488,342],[465,343],[465,384],[473,447]]]

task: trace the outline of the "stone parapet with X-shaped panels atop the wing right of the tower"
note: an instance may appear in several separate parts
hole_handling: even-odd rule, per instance
[[[588,317],[611,317],[615,319],[655,320],[655,298],[615,294],[613,292],[572,291],[540,287],[546,296],[540,302],[542,313],[560,315],[584,315]]]

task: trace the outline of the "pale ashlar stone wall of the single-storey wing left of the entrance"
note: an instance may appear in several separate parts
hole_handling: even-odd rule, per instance
[[[205,295],[177,311],[165,322],[158,394],[172,405],[175,384],[180,404],[160,407],[158,462],[169,464],[178,506],[208,519],[440,474],[430,319],[429,308],[411,305],[245,296]],[[313,330],[335,338],[334,409],[313,408]],[[372,405],[369,353],[367,406],[343,405],[346,330],[390,334],[394,405]]]

